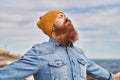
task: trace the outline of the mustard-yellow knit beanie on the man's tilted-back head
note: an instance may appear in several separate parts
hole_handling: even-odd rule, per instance
[[[49,37],[52,37],[52,29],[59,10],[52,10],[40,17],[37,26]]]

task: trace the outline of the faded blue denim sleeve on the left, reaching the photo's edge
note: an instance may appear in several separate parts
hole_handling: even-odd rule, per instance
[[[23,80],[39,69],[37,51],[32,47],[21,59],[0,68],[0,80]]]

